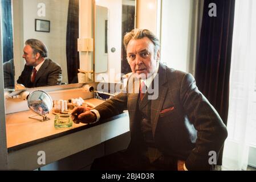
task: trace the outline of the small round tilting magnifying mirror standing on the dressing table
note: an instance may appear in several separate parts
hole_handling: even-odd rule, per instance
[[[52,109],[52,99],[46,92],[43,92],[42,90],[36,90],[30,93],[29,97],[27,98],[27,104],[30,110],[34,111],[34,113],[41,115],[43,117],[43,119],[38,120],[46,121],[49,119],[46,117],[46,114],[48,114]]]

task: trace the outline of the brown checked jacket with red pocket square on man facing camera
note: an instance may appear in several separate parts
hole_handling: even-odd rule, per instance
[[[218,152],[227,137],[226,126],[214,107],[198,90],[189,73],[159,65],[158,97],[151,103],[153,138],[164,156],[185,160],[188,170],[209,170],[211,151]],[[141,146],[138,109],[139,81],[131,75],[126,92],[95,107],[105,119],[128,109],[131,150]],[[132,84],[131,84],[132,82]],[[133,92],[129,90],[133,85]],[[155,84],[156,85],[156,84]],[[144,97],[147,97],[146,93]],[[147,102],[144,102],[147,104]],[[209,153],[210,152],[210,153]]]

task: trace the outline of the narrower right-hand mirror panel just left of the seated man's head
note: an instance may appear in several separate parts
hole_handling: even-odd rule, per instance
[[[95,80],[120,82],[111,74],[131,72],[123,46],[123,36],[135,28],[135,0],[95,1]]]

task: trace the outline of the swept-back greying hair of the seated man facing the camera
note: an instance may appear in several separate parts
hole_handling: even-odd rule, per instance
[[[136,39],[143,39],[145,37],[147,37],[149,40],[151,40],[151,42],[155,45],[155,57],[156,57],[157,51],[160,50],[160,41],[156,37],[156,35],[154,35],[151,31],[149,31],[147,29],[135,28],[131,32],[127,32],[124,35],[125,50],[127,50],[127,46],[129,44],[130,40],[132,40],[132,39],[135,39],[135,40]]]

